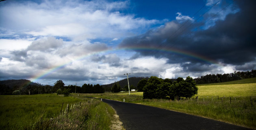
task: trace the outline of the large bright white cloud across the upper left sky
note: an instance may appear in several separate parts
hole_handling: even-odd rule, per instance
[[[131,34],[129,31],[159,22],[124,15],[129,1],[43,1],[9,3],[1,7],[0,26],[4,29],[23,30],[38,36],[69,37],[82,41],[95,38],[119,38]]]

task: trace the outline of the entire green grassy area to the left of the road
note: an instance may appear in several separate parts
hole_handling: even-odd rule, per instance
[[[113,109],[100,100],[61,97],[56,94],[0,95],[1,130],[24,129],[100,129],[109,130]],[[61,106],[81,102],[68,115],[60,115]]]

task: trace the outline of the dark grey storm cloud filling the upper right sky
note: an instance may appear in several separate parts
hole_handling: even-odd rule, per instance
[[[174,20],[157,30],[150,30],[143,35],[124,39],[119,48],[143,46],[166,50],[177,49],[178,51],[190,52],[189,54],[197,54],[213,59],[213,61],[221,61],[232,65],[244,65],[255,61],[256,33],[254,31],[256,30],[256,15],[254,13],[256,12],[256,1],[235,1],[234,4],[239,7],[239,12],[226,15],[225,20],[217,20],[214,26],[206,30],[198,29],[198,25],[202,23],[197,23],[184,32],[182,32],[182,28],[187,27],[186,25],[175,32],[182,23]],[[189,32],[193,28],[197,28],[197,31]],[[169,63],[190,62],[190,65],[183,65],[184,68],[188,69],[208,70],[207,67],[196,68],[197,63],[200,63],[200,66],[210,66],[209,63],[193,56],[137,49],[135,51],[142,56],[166,57],[169,59]]]

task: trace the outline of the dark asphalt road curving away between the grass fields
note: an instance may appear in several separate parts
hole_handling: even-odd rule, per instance
[[[162,108],[102,99],[111,105],[126,130],[250,130]]]

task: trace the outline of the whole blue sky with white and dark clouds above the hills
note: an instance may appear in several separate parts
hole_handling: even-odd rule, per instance
[[[0,80],[110,84],[256,69],[255,0],[6,0]]]

